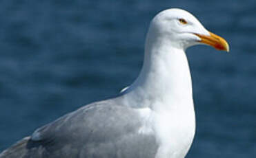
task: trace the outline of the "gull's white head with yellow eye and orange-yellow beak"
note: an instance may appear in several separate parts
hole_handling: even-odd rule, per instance
[[[150,32],[153,32],[152,36],[167,39],[173,47],[180,49],[205,44],[229,51],[224,38],[206,30],[193,14],[181,9],[164,10],[157,14],[151,21]]]

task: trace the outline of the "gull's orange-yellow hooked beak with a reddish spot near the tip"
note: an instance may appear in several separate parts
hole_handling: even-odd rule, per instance
[[[215,49],[218,50],[224,50],[226,52],[229,52],[229,46],[226,40],[216,34],[213,34],[212,32],[209,32],[210,36],[207,35],[201,35],[201,34],[195,34],[201,38],[201,41],[199,43],[204,43],[206,45],[210,45],[212,47],[215,47]]]

